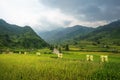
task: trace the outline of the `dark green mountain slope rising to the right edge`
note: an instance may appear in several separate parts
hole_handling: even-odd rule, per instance
[[[120,20],[96,28],[83,39],[103,44],[120,45]]]

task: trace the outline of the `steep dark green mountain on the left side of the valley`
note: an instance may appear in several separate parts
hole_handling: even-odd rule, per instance
[[[29,26],[20,27],[0,19],[0,48],[42,48],[47,43]]]

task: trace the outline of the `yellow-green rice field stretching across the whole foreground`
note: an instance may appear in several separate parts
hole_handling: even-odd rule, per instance
[[[63,52],[63,58],[40,50],[36,54],[0,54],[0,80],[120,80],[120,54]],[[94,61],[86,61],[92,54]],[[100,62],[108,55],[109,62]]]

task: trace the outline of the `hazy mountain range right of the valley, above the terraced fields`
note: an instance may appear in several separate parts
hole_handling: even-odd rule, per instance
[[[39,35],[50,44],[72,44],[80,41],[96,44],[120,45],[120,20],[97,28],[76,25],[73,27],[43,32]]]

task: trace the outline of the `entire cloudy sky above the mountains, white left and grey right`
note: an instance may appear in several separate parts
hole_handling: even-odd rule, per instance
[[[0,18],[36,31],[97,27],[120,18],[120,0],[0,0]]]

